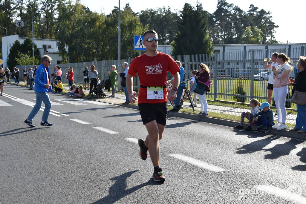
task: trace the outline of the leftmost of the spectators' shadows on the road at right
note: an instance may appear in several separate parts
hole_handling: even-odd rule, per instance
[[[249,144],[245,144],[242,147],[236,149],[238,150],[237,154],[251,154],[253,152],[257,152],[260,150],[263,150],[263,147],[266,147],[268,144],[270,144],[273,140],[278,139],[277,136],[270,136],[265,139],[260,139],[254,142],[251,142]]]

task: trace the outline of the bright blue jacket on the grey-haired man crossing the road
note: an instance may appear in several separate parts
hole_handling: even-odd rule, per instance
[[[47,67],[47,72],[46,72],[45,68],[46,67],[43,64],[40,64],[37,67],[36,76],[35,76],[35,79],[34,79],[34,82],[35,82],[34,91],[52,92],[51,87],[49,87],[49,89],[45,88],[45,85],[48,83],[47,77],[50,81],[49,68]]]

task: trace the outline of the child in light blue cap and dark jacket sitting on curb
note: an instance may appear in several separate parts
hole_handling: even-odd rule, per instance
[[[267,133],[269,132],[268,127],[275,125],[273,111],[270,109],[270,104],[268,102],[263,102],[263,104],[260,106],[260,109],[263,110],[253,115],[253,122],[255,122],[257,125],[257,128],[254,130],[254,132],[259,132],[261,130],[260,125],[262,125],[263,131],[261,132]]]

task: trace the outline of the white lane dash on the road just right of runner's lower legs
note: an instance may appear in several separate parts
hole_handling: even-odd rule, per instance
[[[226,171],[226,169],[223,169],[221,167],[206,163],[204,161],[200,161],[198,159],[194,159],[188,156],[185,156],[183,154],[169,154],[169,156],[177,158],[179,160],[185,161],[187,163],[193,164],[195,166],[199,166],[203,169],[207,169],[209,171],[214,171],[214,172],[222,172],[222,171]]]

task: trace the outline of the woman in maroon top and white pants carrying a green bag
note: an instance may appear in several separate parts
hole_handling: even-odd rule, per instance
[[[210,78],[210,75],[209,75],[209,69],[207,67],[207,65],[205,64],[200,64],[199,65],[199,70],[198,72],[196,73],[196,79],[199,80],[198,83],[203,83],[203,84],[207,84]],[[207,105],[207,100],[206,100],[206,94],[207,94],[207,91],[210,91],[210,87],[209,85],[205,87],[205,91],[204,91],[204,94],[199,95],[199,101],[201,103],[201,112],[198,113],[197,115],[201,116],[201,117],[206,117],[208,116],[208,113],[207,113],[207,108],[208,108],[208,105]]]

